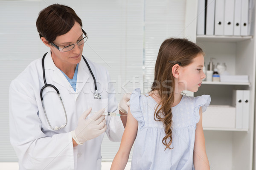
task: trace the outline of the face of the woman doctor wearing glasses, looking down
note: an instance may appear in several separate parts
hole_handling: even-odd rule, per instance
[[[63,48],[81,40],[82,36],[83,36],[83,32],[82,32],[81,26],[79,23],[75,22],[74,26],[70,29],[70,31],[68,31],[66,34],[56,37],[53,43]],[[84,47],[84,44],[83,45],[76,44],[72,50],[67,52],[61,52],[57,48],[50,46],[53,61],[62,63],[62,64],[76,65],[81,60],[83,47]]]

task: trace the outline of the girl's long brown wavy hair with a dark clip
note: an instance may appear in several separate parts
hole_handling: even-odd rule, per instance
[[[166,136],[162,142],[166,149],[172,149],[170,147],[172,144],[172,105],[175,94],[175,81],[172,75],[172,66],[175,63],[169,61],[181,62],[183,67],[189,65],[198,54],[204,55],[203,50],[187,39],[169,38],[160,46],[151,92],[155,91],[160,96],[160,102],[155,108],[154,120],[163,122]]]

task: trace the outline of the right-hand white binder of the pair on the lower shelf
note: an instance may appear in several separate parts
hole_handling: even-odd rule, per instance
[[[250,91],[244,90],[243,95],[243,129],[249,129],[250,115]]]

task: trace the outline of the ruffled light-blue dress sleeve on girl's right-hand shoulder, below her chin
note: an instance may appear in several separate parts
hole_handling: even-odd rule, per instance
[[[200,119],[200,115],[199,115],[200,107],[202,108],[202,112],[205,112],[210,102],[211,102],[211,97],[209,95],[202,95],[202,96],[195,97],[195,108],[194,108],[195,124],[197,124]]]

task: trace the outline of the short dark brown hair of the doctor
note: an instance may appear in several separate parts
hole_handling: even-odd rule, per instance
[[[69,6],[52,4],[44,8],[38,14],[36,27],[40,38],[44,37],[48,43],[56,37],[66,34],[78,22],[82,27],[82,21],[76,12]]]

